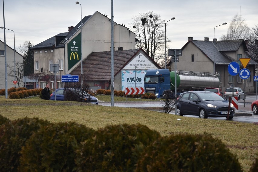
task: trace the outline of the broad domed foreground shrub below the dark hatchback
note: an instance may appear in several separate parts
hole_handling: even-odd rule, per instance
[[[146,148],[136,172],[234,171],[242,172],[235,155],[211,135],[171,135]]]

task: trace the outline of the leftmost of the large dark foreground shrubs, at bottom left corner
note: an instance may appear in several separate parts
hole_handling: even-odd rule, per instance
[[[0,127],[0,169],[1,171],[18,171],[21,147],[26,140],[42,125],[49,122],[38,118],[22,118],[5,122]]]

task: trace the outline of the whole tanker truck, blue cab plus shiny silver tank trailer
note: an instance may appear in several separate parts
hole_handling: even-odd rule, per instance
[[[219,87],[220,81],[214,73],[177,71],[177,93]],[[163,97],[175,92],[175,72],[168,69],[147,70],[144,77],[145,92]]]

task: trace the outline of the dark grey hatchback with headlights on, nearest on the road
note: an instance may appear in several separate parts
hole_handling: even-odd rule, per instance
[[[177,103],[178,115],[198,115],[200,118],[226,117],[229,102],[210,91],[188,91],[180,94]],[[233,119],[235,108],[230,104],[229,119]]]

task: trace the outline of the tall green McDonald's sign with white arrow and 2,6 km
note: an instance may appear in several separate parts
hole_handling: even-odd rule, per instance
[[[81,60],[81,33],[67,44],[68,70]]]

